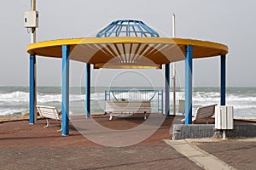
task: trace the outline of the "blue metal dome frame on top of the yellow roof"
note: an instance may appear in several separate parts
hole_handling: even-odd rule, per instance
[[[96,37],[160,37],[141,20],[115,20],[99,31]]]

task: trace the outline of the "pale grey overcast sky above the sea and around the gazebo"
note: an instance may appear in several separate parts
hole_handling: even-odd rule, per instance
[[[0,6],[0,86],[28,85],[30,34],[23,14],[30,0],[3,1]],[[143,20],[161,37],[172,37],[176,14],[177,37],[220,42],[229,46],[227,86],[256,87],[256,1],[243,0],[41,0],[37,2],[37,41],[95,37],[113,20]],[[219,57],[194,59],[194,86],[219,86]],[[84,85],[84,64],[71,62],[71,86]],[[183,61],[177,63],[177,86],[183,86]],[[136,76],[135,76],[136,75]],[[137,81],[132,81],[136,79]],[[111,81],[110,81],[111,80]],[[164,84],[163,71],[96,70],[92,86]],[[38,86],[61,86],[61,59],[38,57]]]

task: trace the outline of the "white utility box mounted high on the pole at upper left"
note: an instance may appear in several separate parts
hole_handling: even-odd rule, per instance
[[[38,11],[26,11],[24,13],[24,26],[26,28],[38,28]]]

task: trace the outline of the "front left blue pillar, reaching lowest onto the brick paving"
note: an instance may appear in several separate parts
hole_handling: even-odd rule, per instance
[[[62,45],[62,100],[61,100],[61,127],[62,136],[69,134],[69,51],[70,47]]]

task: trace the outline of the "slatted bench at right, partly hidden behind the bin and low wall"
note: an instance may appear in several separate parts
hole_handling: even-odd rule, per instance
[[[215,113],[215,105],[206,105],[197,108],[195,112],[195,116],[192,117],[192,122],[196,122],[198,119],[206,119],[208,124],[208,118],[213,116]],[[185,121],[185,119],[181,120],[182,122]]]

